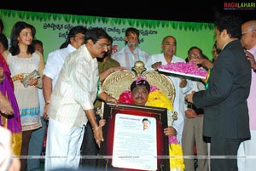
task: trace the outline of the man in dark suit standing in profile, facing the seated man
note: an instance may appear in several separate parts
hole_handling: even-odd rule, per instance
[[[205,111],[203,134],[211,137],[212,171],[238,170],[237,150],[250,139],[247,97],[250,63],[241,47],[241,20],[224,15],[215,22],[215,40],[221,49],[208,77],[206,90],[186,95]]]

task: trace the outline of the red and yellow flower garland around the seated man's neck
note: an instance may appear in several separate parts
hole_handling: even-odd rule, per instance
[[[143,78],[138,78],[143,79]],[[119,103],[134,104],[131,97],[131,90],[125,90],[119,95]],[[173,111],[171,100],[169,100],[159,88],[150,85],[150,93],[146,105],[153,107],[167,108]],[[185,166],[183,164],[183,151],[180,144],[177,142],[176,136],[169,137],[169,156],[171,171],[183,171]]]

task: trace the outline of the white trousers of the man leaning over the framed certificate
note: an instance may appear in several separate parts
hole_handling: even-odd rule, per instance
[[[45,170],[79,168],[84,127],[70,127],[49,119]]]

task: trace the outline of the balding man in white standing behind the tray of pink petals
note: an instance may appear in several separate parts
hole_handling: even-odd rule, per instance
[[[148,62],[146,63],[147,70],[157,69],[160,65],[166,65],[171,62],[185,62],[182,58],[175,56],[176,53],[176,38],[172,36],[164,37],[161,48],[163,53],[161,54],[152,54]],[[183,124],[184,124],[184,94],[188,93],[192,88],[192,83],[189,80],[186,80],[183,77],[178,77],[175,75],[168,75],[172,80],[172,83],[175,87],[175,100],[173,103],[174,111],[177,111],[177,120],[173,122],[172,129],[173,133],[177,133],[177,140],[182,143],[182,134],[183,134]],[[173,134],[174,135],[174,134]]]

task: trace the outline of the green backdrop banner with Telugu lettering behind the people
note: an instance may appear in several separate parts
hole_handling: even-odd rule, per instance
[[[189,17],[189,16],[188,16]],[[125,29],[136,27],[140,31],[139,48],[149,54],[161,52],[160,43],[163,37],[172,35],[177,38],[176,55],[185,59],[192,46],[201,48],[209,59],[212,59],[214,43],[213,23],[181,22],[167,20],[138,20],[73,14],[49,14],[28,11],[0,9],[3,20],[3,33],[10,37],[15,22],[23,20],[37,29],[36,39],[44,43],[44,60],[50,51],[65,42],[70,28],[77,25],[102,27],[113,37],[113,45],[117,49],[125,46]]]

